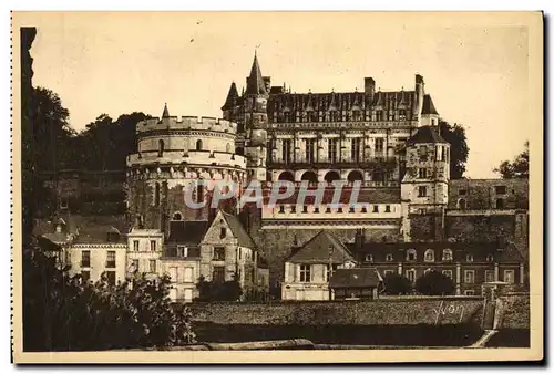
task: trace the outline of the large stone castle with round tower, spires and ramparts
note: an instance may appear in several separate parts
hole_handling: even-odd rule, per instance
[[[439,131],[439,113],[423,76],[413,89],[381,92],[365,77],[362,92],[291,93],[273,86],[257,59],[242,94],[230,84],[223,120],[170,115],[137,125],[138,153],[127,158],[127,210],[136,228],[171,237],[176,222],[212,221],[206,201],[217,180],[246,186],[258,180],[361,184],[366,207],[330,207],[297,194],[275,207],[224,207],[283,279],[291,248],[328,230],[343,243],[357,233],[366,242],[494,242],[503,238],[526,251],[527,181],[450,178],[451,148]],[[240,188],[237,194],[240,194]],[[343,189],[348,201],[351,188]]]

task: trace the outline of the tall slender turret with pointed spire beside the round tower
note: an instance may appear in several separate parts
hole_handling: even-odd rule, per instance
[[[246,79],[245,106],[245,154],[250,179],[266,180],[267,160],[267,80],[261,75],[258,58],[254,55],[250,75]]]

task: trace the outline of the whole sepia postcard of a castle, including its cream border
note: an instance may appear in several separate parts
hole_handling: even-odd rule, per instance
[[[543,359],[541,12],[12,12],[16,363]]]

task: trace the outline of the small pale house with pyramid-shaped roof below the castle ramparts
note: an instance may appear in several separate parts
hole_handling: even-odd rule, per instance
[[[331,232],[322,230],[285,261],[283,300],[329,300],[329,278],[338,269],[352,268],[355,258]]]

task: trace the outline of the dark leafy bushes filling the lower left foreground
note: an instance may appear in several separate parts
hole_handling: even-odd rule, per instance
[[[96,283],[59,270],[40,249],[23,256],[25,351],[166,347],[195,342],[189,310],[168,299],[167,277]]]

